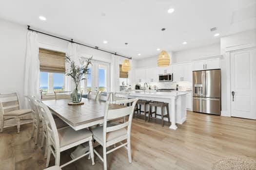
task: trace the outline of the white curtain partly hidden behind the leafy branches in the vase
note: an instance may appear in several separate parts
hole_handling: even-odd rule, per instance
[[[76,43],[68,43],[68,51],[67,55],[71,60],[74,60],[76,65],[79,65],[80,58],[80,46]],[[68,63],[65,64],[66,69],[70,69],[70,65]],[[75,89],[75,83],[73,82],[70,76],[66,76],[65,78],[65,91],[73,91]]]

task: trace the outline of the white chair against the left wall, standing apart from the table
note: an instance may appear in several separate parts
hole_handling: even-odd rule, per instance
[[[3,131],[4,121],[16,119],[17,131],[20,133],[20,120],[26,115],[31,115],[31,109],[20,109],[20,102],[17,93],[0,94],[0,132]]]

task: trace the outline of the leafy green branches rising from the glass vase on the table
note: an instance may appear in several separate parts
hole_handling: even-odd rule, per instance
[[[91,60],[93,57],[90,57],[88,60],[79,60],[80,65],[76,65],[75,61],[70,59],[70,56],[66,55],[66,62],[70,64],[70,69],[66,69],[66,76],[72,77],[76,90],[78,85],[85,78],[85,75],[89,74],[89,66],[92,64]]]

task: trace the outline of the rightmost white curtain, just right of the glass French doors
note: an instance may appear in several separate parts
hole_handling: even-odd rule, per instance
[[[111,84],[110,90],[111,92],[120,91],[119,85],[119,60],[120,57],[118,55],[112,54],[111,56],[111,65],[110,65],[110,75],[111,75]]]

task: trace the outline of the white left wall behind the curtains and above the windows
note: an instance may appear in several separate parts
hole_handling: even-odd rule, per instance
[[[0,93],[17,91],[23,105],[24,61],[26,51],[27,27],[0,19]],[[68,42],[39,34],[39,47],[56,51],[67,51]],[[91,48],[81,47],[82,55],[93,55],[93,59],[111,62],[111,54]],[[120,63],[124,58],[121,57]],[[133,60],[133,63],[136,63]],[[136,68],[132,67],[132,68]],[[131,80],[133,81],[131,74]],[[135,75],[135,74],[134,74]]]

